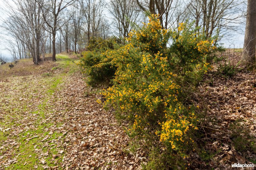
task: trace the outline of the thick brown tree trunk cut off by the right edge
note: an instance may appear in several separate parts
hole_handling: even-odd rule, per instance
[[[244,50],[242,62],[246,66],[255,65],[256,47],[256,0],[248,0],[244,35]]]

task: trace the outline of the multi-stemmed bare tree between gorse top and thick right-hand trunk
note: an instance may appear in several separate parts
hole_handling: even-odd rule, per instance
[[[188,4],[187,16],[195,21],[205,37],[220,37],[222,31],[236,31],[244,21],[244,0],[191,0]],[[216,39],[217,41],[217,39]]]

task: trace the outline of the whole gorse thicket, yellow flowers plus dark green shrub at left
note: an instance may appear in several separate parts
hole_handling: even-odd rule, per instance
[[[214,39],[188,23],[165,30],[157,15],[150,15],[126,41],[106,50],[90,47],[78,65],[90,84],[110,81],[98,102],[130,122],[126,132],[135,141],[130,148],[147,153],[145,169],[183,169],[198,129],[197,107],[188,93],[212,69]]]

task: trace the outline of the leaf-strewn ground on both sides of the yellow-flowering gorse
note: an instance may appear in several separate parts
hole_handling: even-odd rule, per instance
[[[228,55],[237,63],[239,52]],[[0,66],[0,169],[141,169],[147,162],[130,153],[124,124],[96,102],[100,89],[86,85],[76,62],[60,54],[38,66],[30,59]],[[227,78],[214,67],[194,94],[203,117],[188,169],[256,163],[256,75]]]

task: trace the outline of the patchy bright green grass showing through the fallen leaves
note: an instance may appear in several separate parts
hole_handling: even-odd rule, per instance
[[[60,157],[53,158],[53,155],[57,155],[59,150],[61,148],[57,148],[57,144],[52,141],[57,141],[57,139],[61,137],[60,140],[63,140],[65,136],[60,132],[53,132],[52,135],[49,135],[49,130],[45,131],[46,128],[50,128],[53,124],[51,122],[42,123],[47,118],[47,114],[53,113],[52,110],[49,110],[47,106],[47,101],[49,101],[50,98],[52,98],[52,95],[54,95],[55,92],[58,92],[61,90],[62,86],[60,85],[65,81],[68,75],[78,71],[78,67],[76,65],[76,61],[72,58],[69,58],[67,55],[56,55],[57,58],[57,66],[52,68],[52,72],[49,73],[43,73],[41,77],[38,77],[38,80],[36,81],[30,81],[30,82],[22,82],[21,78],[17,79],[10,79],[11,81],[15,81],[12,83],[12,89],[16,91],[23,91],[22,93],[26,93],[26,98],[28,99],[34,99],[35,96],[29,95],[33,93],[38,93],[39,100],[43,101],[41,104],[38,104],[34,110],[31,110],[29,108],[28,103],[26,101],[20,101],[19,97],[15,98],[14,94],[5,95],[5,98],[7,98],[9,101],[8,105],[12,105],[12,108],[6,107],[5,115],[3,115],[3,119],[0,122],[1,128],[10,128],[12,126],[18,126],[20,125],[17,120],[21,120],[24,118],[24,115],[22,112],[30,112],[32,115],[36,115],[36,120],[33,122],[33,125],[35,128],[28,129],[27,131],[23,131],[18,136],[12,136],[11,139],[14,139],[17,143],[20,144],[18,148],[15,148],[13,153],[13,159],[17,159],[16,163],[11,164],[6,169],[35,169],[35,165],[38,166],[39,169],[43,169],[43,165],[40,163],[41,158],[39,158],[40,155],[35,152],[35,149],[42,149],[44,153],[49,152],[48,156],[44,156],[42,158],[45,158],[46,163],[44,165],[47,166],[56,166],[60,165],[63,154],[61,154]],[[28,60],[28,59],[26,59]],[[21,61],[20,63],[22,63]],[[27,61],[28,62],[28,61]],[[5,66],[4,66],[5,67]],[[0,69],[3,69],[0,68]],[[60,73],[54,73],[55,70],[60,69]],[[28,87],[29,85],[29,87]],[[44,86],[44,88],[41,88],[40,86]],[[40,88],[40,89],[38,89]],[[43,97],[42,97],[43,94]],[[0,96],[1,98],[1,96]],[[0,100],[1,101],[1,100]],[[54,100],[53,100],[54,102]],[[6,106],[5,104],[4,106]],[[17,107],[18,106],[18,107]],[[52,106],[54,106],[54,103],[52,103]],[[0,108],[1,109],[1,108]],[[26,115],[25,115],[26,116]],[[62,125],[61,122],[57,123],[56,126],[60,127]],[[9,136],[10,132],[2,132],[0,131],[0,145],[7,139],[10,138]],[[49,135],[49,138],[45,141],[42,141],[47,135]],[[26,139],[35,137],[29,141]],[[48,143],[48,145],[45,147],[44,144]],[[36,148],[35,148],[35,145]],[[12,146],[10,146],[12,147]],[[0,155],[4,154],[6,150],[1,150]],[[0,160],[1,161],[1,160]],[[25,164],[26,163],[26,164]],[[25,165],[24,165],[25,164]]]

